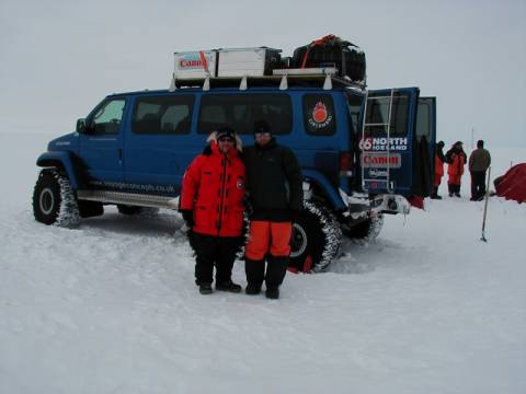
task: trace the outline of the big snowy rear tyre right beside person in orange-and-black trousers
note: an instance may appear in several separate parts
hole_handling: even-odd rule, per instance
[[[306,201],[302,215],[293,223],[289,268],[322,271],[338,256],[341,242],[336,218],[328,209]]]

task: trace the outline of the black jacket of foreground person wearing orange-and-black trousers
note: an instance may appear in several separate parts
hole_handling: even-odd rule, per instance
[[[289,221],[291,211],[304,208],[302,176],[290,149],[272,140],[243,150],[247,194],[252,220]]]

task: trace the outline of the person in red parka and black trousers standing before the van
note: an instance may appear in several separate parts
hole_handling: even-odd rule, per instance
[[[239,157],[241,140],[230,128],[208,137],[209,144],[184,173],[180,212],[192,229],[195,282],[202,294],[216,290],[240,292],[232,282],[232,267],[242,239],[244,212],[244,164]]]

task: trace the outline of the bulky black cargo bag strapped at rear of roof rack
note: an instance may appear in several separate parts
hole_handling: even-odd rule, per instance
[[[365,83],[365,54],[334,35],[316,39],[294,50],[290,68],[335,67],[340,77]]]

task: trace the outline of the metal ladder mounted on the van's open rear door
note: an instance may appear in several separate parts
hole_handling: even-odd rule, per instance
[[[362,125],[362,140],[359,142],[362,157],[362,189],[364,192],[368,192],[369,189],[386,189],[388,193],[392,193],[395,188],[390,176],[390,137],[393,96],[395,89],[391,89],[390,95],[384,96],[369,97],[369,92],[367,91],[366,93],[364,108],[365,116]],[[371,105],[369,101],[375,101],[375,103]],[[386,108],[386,102],[388,104],[387,114],[384,114],[382,109]],[[385,120],[385,117],[387,117],[387,121]],[[375,121],[368,123],[368,120]],[[385,129],[386,131],[378,132],[378,129]],[[385,141],[385,143],[377,143],[378,141]]]

